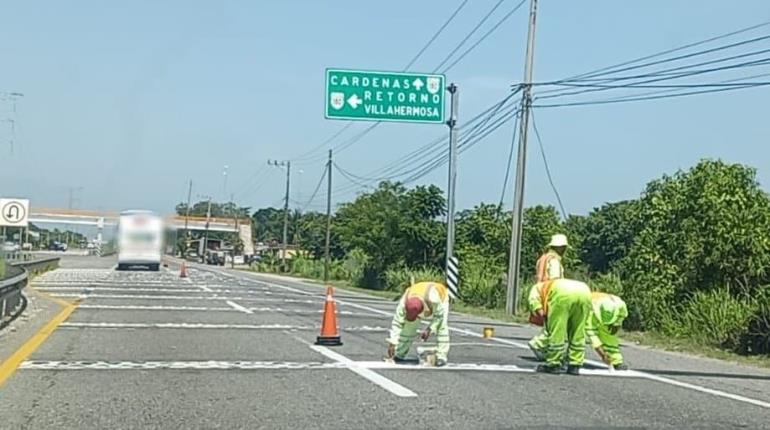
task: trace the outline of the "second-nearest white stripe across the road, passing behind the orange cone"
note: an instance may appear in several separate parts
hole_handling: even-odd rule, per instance
[[[220,330],[318,330],[320,325],[287,324],[211,324],[211,323],[110,323],[110,322],[63,322],[59,329],[220,329]],[[387,327],[341,327],[343,332],[386,333]]]

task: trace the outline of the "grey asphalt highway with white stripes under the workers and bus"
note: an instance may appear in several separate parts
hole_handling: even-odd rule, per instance
[[[459,314],[449,366],[399,366],[382,360],[392,301],[338,290],[344,345],[317,347],[322,286],[114,265],[66,256],[35,279],[30,315],[0,337],[3,359],[26,355],[0,370],[0,428],[770,427],[763,369],[629,345],[633,371],[536,374],[531,327],[484,339],[490,322]]]

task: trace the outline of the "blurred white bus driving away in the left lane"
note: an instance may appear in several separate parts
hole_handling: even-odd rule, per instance
[[[144,266],[160,269],[163,252],[163,218],[152,211],[130,210],[118,220],[118,270]]]

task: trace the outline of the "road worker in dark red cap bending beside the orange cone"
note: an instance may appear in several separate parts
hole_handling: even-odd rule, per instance
[[[420,334],[428,340],[435,333],[436,365],[444,366],[449,353],[449,290],[438,282],[418,282],[407,288],[396,307],[388,336],[388,358],[403,363],[414,342],[422,320],[432,318],[430,325]]]

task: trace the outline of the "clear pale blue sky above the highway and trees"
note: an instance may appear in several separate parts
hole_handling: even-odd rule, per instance
[[[431,71],[495,3],[471,0],[412,67]],[[499,16],[517,1],[506,0]],[[0,91],[18,91],[16,151],[0,123],[0,195],[33,206],[171,212],[193,196],[280,204],[291,159],[345,122],[323,118],[324,70],[401,70],[459,1],[3,2]],[[447,74],[460,122],[521,81],[527,7]],[[541,1],[535,80],[569,76],[770,18],[763,0]],[[489,27],[488,23],[482,31]],[[764,33],[770,32],[765,28]],[[753,34],[764,34],[762,31]],[[471,39],[471,41],[475,38]],[[767,71],[767,69],[765,69]],[[663,173],[704,157],[750,164],[770,183],[769,89],[635,104],[541,109],[537,124],[568,212],[638,196]],[[10,104],[0,101],[0,118]],[[355,124],[332,146],[366,128]],[[366,176],[446,133],[383,124],[335,157]],[[511,127],[460,157],[457,204],[500,198]],[[532,141],[527,204],[553,204]],[[292,166],[292,199],[307,201],[325,150]],[[313,157],[311,157],[313,158]],[[228,166],[227,184],[222,175]],[[347,185],[340,176],[335,186]],[[444,187],[446,168],[424,178]],[[309,209],[324,207],[316,198]],[[335,196],[335,203],[353,191]],[[506,203],[510,204],[510,192]],[[296,206],[293,204],[293,206]]]

